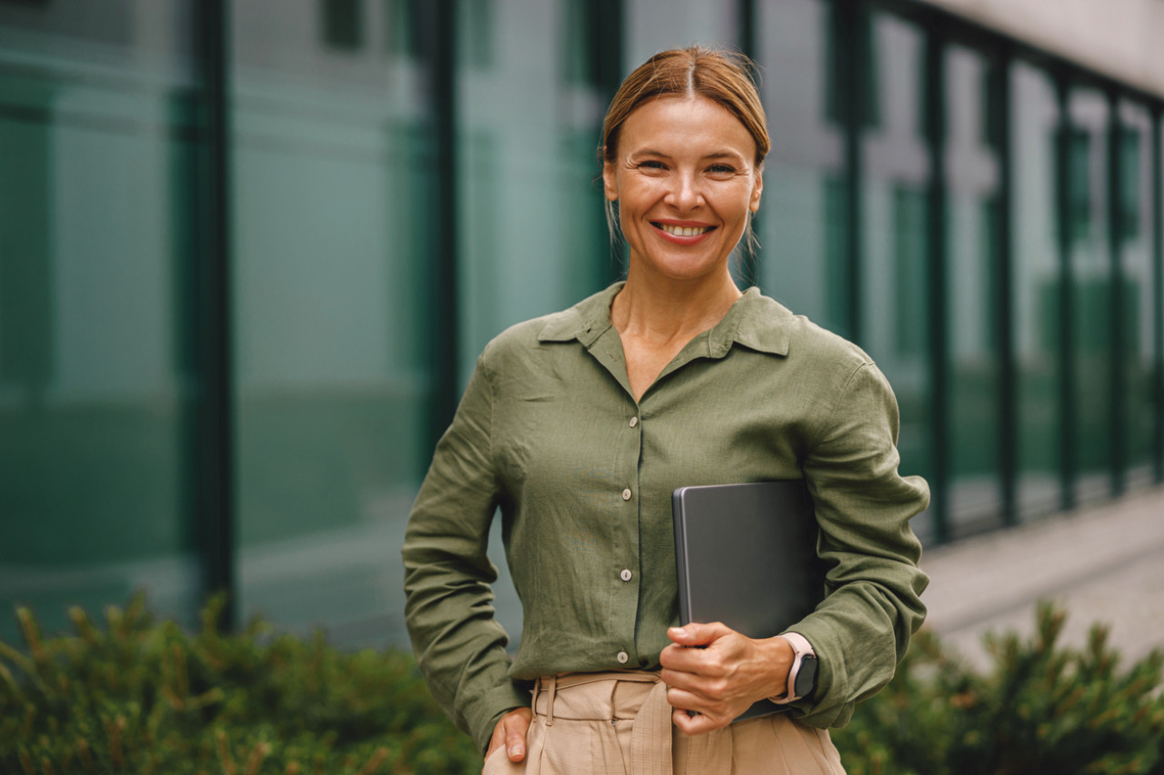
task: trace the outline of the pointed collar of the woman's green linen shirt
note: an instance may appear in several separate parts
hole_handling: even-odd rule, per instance
[[[589,348],[612,326],[610,304],[623,290],[624,283],[579,301],[569,310],[545,318],[545,326],[538,334],[539,342],[569,342],[577,340]],[[771,355],[788,355],[788,340],[793,313],[782,304],[750,287],[728,311],[716,326],[700,336],[708,346],[708,356],[722,358],[732,344]]]

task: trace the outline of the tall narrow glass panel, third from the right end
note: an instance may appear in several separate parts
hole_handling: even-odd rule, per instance
[[[1060,503],[1055,172],[1059,112],[1048,73],[1021,62],[1010,72],[1016,495],[1020,517],[1028,519],[1055,511]]]

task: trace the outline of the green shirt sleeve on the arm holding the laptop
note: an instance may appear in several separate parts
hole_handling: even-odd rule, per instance
[[[880,370],[858,365],[807,453],[804,477],[821,526],[826,598],[789,627],[819,659],[802,721],[842,726],[889,682],[925,618],[921,545],[908,520],[929,504],[920,477],[897,474],[897,404]]]

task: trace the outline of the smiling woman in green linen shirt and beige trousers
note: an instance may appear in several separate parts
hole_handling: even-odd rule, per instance
[[[897,475],[888,384],[729,272],[767,151],[731,55],[666,51],[631,73],[602,148],[626,280],[490,342],[436,448],[406,619],[485,773],[843,773],[826,727],[889,681],[924,618],[908,520],[929,493]],[[672,491],[801,477],[824,602],[772,639],[675,626]],[[512,662],[485,556],[498,506],[523,604]],[[815,685],[796,682],[812,656]],[[789,712],[731,724],[764,697]]]

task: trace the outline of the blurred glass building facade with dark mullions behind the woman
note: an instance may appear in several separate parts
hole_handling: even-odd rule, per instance
[[[696,41],[761,69],[740,280],[889,377],[928,546],[1159,486],[1159,0],[0,0],[0,611],[227,589],[406,642],[435,439],[489,339],[620,276],[603,112]]]

